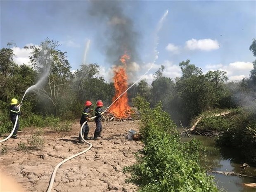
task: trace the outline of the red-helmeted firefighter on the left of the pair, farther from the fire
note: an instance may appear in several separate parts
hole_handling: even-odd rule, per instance
[[[85,105],[85,109],[83,109],[83,112],[82,112],[82,116],[81,116],[81,120],[80,120],[80,127],[83,125],[83,123],[85,121],[90,121],[90,118],[88,116],[90,114],[90,107],[92,105],[92,102],[86,101],[84,105]],[[88,133],[89,133],[89,126],[86,122],[82,128],[82,134],[84,135],[85,140],[89,140]],[[79,132],[79,137],[78,137],[78,143],[84,143],[80,132]]]

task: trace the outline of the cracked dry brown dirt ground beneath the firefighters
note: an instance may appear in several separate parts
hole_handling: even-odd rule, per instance
[[[95,123],[88,124],[92,137]],[[125,183],[130,175],[123,173],[123,167],[134,164],[135,152],[142,149],[140,141],[127,139],[128,130],[138,130],[139,122],[102,122],[102,127],[102,139],[88,140],[92,143],[88,152],[58,168],[52,192],[137,191],[136,185]],[[0,154],[0,166],[1,171],[12,176],[26,192],[45,192],[55,166],[89,145],[77,143],[80,124],[76,121],[71,132],[58,133],[45,128],[41,136],[44,145],[40,150],[17,150],[18,144],[26,143],[35,131],[35,128],[25,128],[18,133],[18,139],[0,143],[0,149],[7,149],[5,154]]]

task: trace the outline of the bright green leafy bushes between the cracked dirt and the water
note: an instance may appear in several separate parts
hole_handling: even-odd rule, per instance
[[[145,144],[137,154],[137,164],[124,168],[140,192],[214,192],[218,191],[212,176],[199,166],[205,156],[197,140],[180,142],[180,135],[161,103],[150,109],[138,96],[134,100],[142,119],[140,133]]]

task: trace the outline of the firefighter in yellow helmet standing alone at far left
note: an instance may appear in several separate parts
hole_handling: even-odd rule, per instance
[[[13,126],[15,124],[17,115],[21,115],[21,111],[20,111],[21,104],[18,104],[18,105],[17,104],[18,104],[18,100],[13,98],[11,100],[11,103],[10,103],[10,118],[11,118]],[[12,136],[11,136],[13,139],[17,139],[18,130],[19,130],[19,119],[17,119],[16,127],[14,129],[14,132],[13,132]]]

